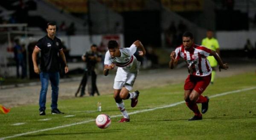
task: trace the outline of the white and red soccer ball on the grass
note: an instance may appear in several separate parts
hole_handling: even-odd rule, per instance
[[[99,114],[95,122],[100,129],[106,129],[111,124],[110,117],[106,114]]]

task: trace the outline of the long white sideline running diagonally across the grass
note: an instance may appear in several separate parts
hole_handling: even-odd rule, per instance
[[[256,89],[256,87],[251,87],[251,88],[247,88],[247,89],[239,89],[239,90],[235,90],[235,91],[228,91],[228,92],[224,92],[224,93],[220,93],[220,94],[215,94],[215,95],[212,95],[212,96],[209,96],[209,97],[213,98],[213,97],[218,97],[218,96],[223,96],[223,95],[227,95],[227,94],[231,94],[231,93],[237,93],[237,92],[248,91],[248,90],[253,90],[253,89]],[[185,103],[185,101],[172,103],[172,104],[167,105],[167,106],[156,107],[156,108],[153,108],[153,109],[144,109],[144,110],[134,111],[134,112],[131,112],[131,113],[128,113],[128,114],[137,114],[137,113],[145,112],[145,111],[152,111],[152,110],[156,110],[156,109],[164,109],[164,108],[168,108],[168,107],[172,107],[172,106],[177,106],[181,103]],[[122,115],[120,114],[120,115],[111,116],[111,118],[119,117],[119,116],[122,116]],[[5,140],[5,139],[8,139],[8,138],[13,138],[13,137],[20,137],[20,136],[23,136],[23,135],[26,135],[26,134],[33,134],[33,133],[38,133],[38,132],[43,132],[43,131],[49,131],[49,130],[60,129],[60,128],[64,128],[64,127],[69,127],[69,126],[75,126],[75,125],[79,125],[79,124],[83,124],[83,123],[89,123],[89,122],[92,122],[92,121],[95,121],[95,119],[86,120],[86,121],[78,122],[78,123],[72,123],[72,124],[68,124],[68,125],[64,125],[64,126],[52,127],[52,128],[49,128],[49,129],[41,129],[41,130],[37,130],[37,131],[15,134],[15,135],[8,136],[8,137],[1,137],[0,140]]]

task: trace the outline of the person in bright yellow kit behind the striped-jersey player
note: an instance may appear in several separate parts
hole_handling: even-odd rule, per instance
[[[219,43],[218,40],[213,37],[213,31],[207,30],[206,38],[202,40],[202,46],[207,47],[208,49],[211,49],[213,51],[216,51],[218,55],[220,55],[220,49],[219,49]],[[214,82],[214,77],[216,74],[216,67],[218,66],[218,62],[215,60],[213,56],[207,57],[209,60],[209,63],[212,67],[212,79],[211,84]]]

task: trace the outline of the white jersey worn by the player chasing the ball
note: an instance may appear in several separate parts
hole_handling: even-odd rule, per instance
[[[122,69],[127,72],[137,72],[140,66],[140,61],[137,61],[136,57],[133,55],[137,47],[133,44],[130,48],[120,48],[120,57],[111,57],[109,51],[105,54],[104,64],[105,66],[111,63],[115,64],[118,69]]]

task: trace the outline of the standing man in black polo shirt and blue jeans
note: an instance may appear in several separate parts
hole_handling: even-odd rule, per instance
[[[32,60],[34,65],[34,71],[36,74],[40,74],[41,80],[41,91],[39,97],[39,115],[45,115],[45,103],[46,94],[48,89],[48,80],[51,82],[52,86],[52,114],[64,114],[58,110],[58,85],[59,85],[59,66],[60,62],[58,59],[58,53],[65,63],[65,73],[68,72],[67,61],[62,51],[61,40],[55,37],[56,24],[50,22],[47,24],[47,35],[40,40],[35,46],[32,54]],[[37,64],[37,54],[41,51],[41,70],[38,68]]]

